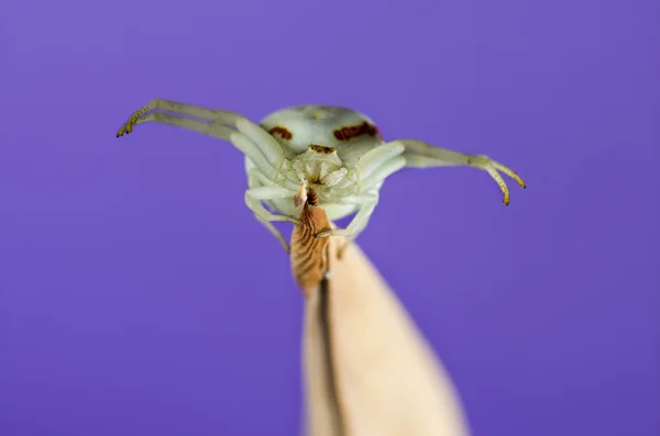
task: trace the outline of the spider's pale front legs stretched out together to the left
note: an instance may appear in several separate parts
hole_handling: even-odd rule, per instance
[[[166,111],[170,112],[173,115],[152,111]],[[194,121],[190,120],[190,118],[204,121]],[[188,120],[193,121],[193,123],[173,122],[174,120]],[[284,161],[284,150],[277,141],[257,124],[248,120],[245,116],[230,111],[206,109],[193,104],[177,103],[175,101],[163,99],[154,99],[148,104],[135,111],[129,118],[129,121],[121,126],[117,133],[117,137],[129,134],[133,131],[133,126],[150,121],[177,125],[179,127],[205,134],[210,133],[208,133],[208,131],[204,131],[200,125],[213,125],[217,126],[213,127],[213,130],[218,133],[215,135],[210,134],[211,136],[232,142],[239,149],[241,149],[241,152],[243,152],[243,148],[258,150],[258,154],[263,156],[261,159],[255,156],[255,153],[249,155],[249,157],[253,159],[261,168],[265,168],[262,167],[262,161],[264,158],[270,164],[268,166],[277,171]],[[197,128],[194,126],[197,126]],[[229,127],[237,128],[238,133],[233,128]],[[239,145],[237,143],[241,144]]]

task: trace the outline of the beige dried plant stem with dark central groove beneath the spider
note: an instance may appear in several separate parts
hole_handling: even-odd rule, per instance
[[[311,208],[306,205],[300,216],[307,233],[294,232],[293,256],[306,243],[302,236],[312,236],[312,227],[330,224],[322,209]],[[468,435],[449,376],[392,289],[355,244],[326,239],[307,249],[318,256],[309,277],[300,276],[293,261],[294,275],[306,287],[306,435]],[[322,281],[324,272],[328,280]]]

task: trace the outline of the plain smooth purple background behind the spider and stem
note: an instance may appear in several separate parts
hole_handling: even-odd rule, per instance
[[[360,238],[475,435],[660,434],[652,0],[3,0],[0,435],[293,435],[300,293],[231,145],[331,103],[510,166],[407,170]]]

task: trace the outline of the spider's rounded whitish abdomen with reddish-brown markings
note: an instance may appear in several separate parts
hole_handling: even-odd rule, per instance
[[[312,149],[319,154],[343,150],[383,139],[374,122],[350,109],[330,105],[286,108],[267,115],[261,126],[273,135],[288,157]]]

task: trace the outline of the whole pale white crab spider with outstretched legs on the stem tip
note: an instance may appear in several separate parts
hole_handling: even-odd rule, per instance
[[[164,111],[164,112],[163,112]],[[169,112],[169,113],[165,113]],[[331,221],[355,216],[346,228],[319,233],[354,239],[378,203],[384,180],[404,167],[469,166],[487,171],[504,193],[508,188],[498,171],[522,180],[507,167],[483,155],[466,155],[415,139],[385,142],[366,115],[344,108],[300,105],[267,115],[260,125],[238,113],[154,99],[138,110],[117,137],[133,126],[156,122],[184,127],[232,143],[245,155],[245,204],[288,251],[288,244],[272,224],[297,217],[307,187],[314,187]],[[272,213],[263,203],[266,203]]]

